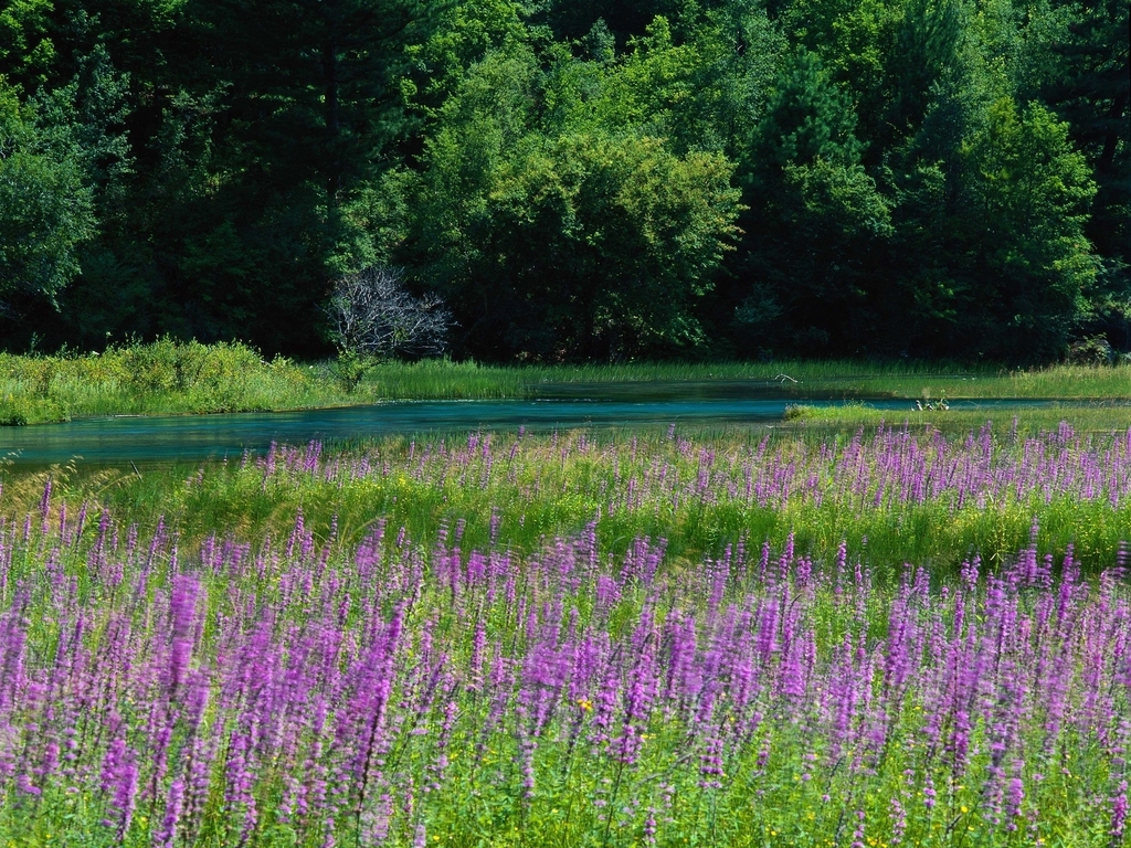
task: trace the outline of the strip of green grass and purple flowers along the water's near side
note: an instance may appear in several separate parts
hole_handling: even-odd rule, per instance
[[[182,545],[214,533],[245,540],[284,533],[296,511],[326,538],[359,542],[377,520],[431,544],[463,527],[533,551],[596,522],[608,553],[667,539],[691,561],[745,538],[803,552],[841,540],[878,574],[905,562],[952,572],[972,552],[1001,563],[1038,526],[1041,552],[1074,545],[1087,570],[1110,563],[1131,528],[1131,434],[1070,425],[1037,435],[990,427],[856,433],[582,431],[390,438],[345,450],[278,447],[266,457],[199,467],[58,468],[57,494],[122,520],[175,525]],[[8,474],[5,511],[31,508],[49,473]],[[5,507],[5,504],[7,504]]]

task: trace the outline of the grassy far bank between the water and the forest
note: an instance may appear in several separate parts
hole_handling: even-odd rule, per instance
[[[96,415],[282,410],[385,399],[523,398],[549,384],[751,382],[786,395],[938,398],[1131,398],[1131,365],[961,371],[939,364],[776,362],[553,365],[386,363],[346,391],[333,363],[262,360],[240,344],[129,345],[102,354],[0,354],[0,424]]]

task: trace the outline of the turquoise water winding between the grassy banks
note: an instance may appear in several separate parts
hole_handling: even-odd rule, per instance
[[[468,432],[478,429],[547,431],[579,426],[767,425],[788,404],[832,406],[828,397],[798,397],[749,383],[539,387],[535,400],[392,401],[339,409],[207,416],[86,418],[67,424],[0,427],[0,464],[50,466],[70,461],[193,461],[262,452],[271,442],[359,440],[392,433]],[[599,395],[598,395],[599,392]],[[853,401],[853,403],[860,403]],[[865,399],[879,409],[909,410],[913,403]],[[964,408],[1031,408],[1052,401],[987,400]],[[957,404],[955,408],[957,408]]]

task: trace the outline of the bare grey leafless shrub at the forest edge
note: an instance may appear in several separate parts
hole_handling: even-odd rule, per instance
[[[374,266],[342,277],[327,308],[330,335],[343,356],[440,356],[451,313],[435,295],[414,297],[398,268]]]

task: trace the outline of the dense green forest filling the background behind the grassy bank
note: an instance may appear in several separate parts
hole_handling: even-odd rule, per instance
[[[1125,0],[3,0],[0,349],[1131,351]]]

